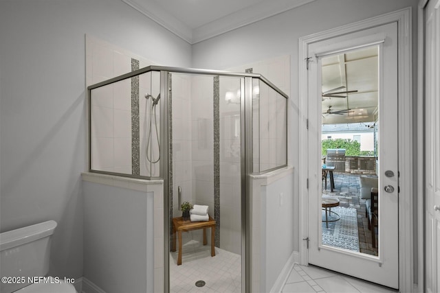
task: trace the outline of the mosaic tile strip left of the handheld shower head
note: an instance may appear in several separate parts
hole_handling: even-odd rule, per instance
[[[131,58],[131,71],[139,69],[139,60]],[[139,76],[131,78],[131,174],[140,175]]]

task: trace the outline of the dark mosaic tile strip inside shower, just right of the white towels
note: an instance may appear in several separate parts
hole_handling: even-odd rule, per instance
[[[215,246],[220,247],[220,77],[214,76],[214,218]]]

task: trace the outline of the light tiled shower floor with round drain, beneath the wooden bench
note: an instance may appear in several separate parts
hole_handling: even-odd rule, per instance
[[[183,250],[180,266],[177,252],[170,253],[170,292],[241,292],[241,255],[216,247],[211,257],[210,247],[194,246]]]

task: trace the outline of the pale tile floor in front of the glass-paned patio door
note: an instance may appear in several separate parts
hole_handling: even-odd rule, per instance
[[[347,277],[316,266],[300,266],[295,263],[283,286],[283,293],[385,293],[396,292],[380,285]]]

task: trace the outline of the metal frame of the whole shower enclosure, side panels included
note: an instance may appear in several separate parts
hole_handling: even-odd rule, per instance
[[[163,154],[159,161],[159,176],[137,176],[132,174],[120,174],[115,172],[103,172],[100,170],[92,169],[91,166],[91,91],[93,89],[98,89],[101,86],[106,86],[108,84],[113,84],[115,82],[119,82],[120,80],[125,80],[128,78],[133,78],[137,75],[141,75],[143,73],[148,73],[151,71],[156,71],[160,73],[160,97],[162,98],[162,103],[159,103],[160,106],[160,153]],[[241,121],[241,286],[242,292],[250,292],[251,283],[250,276],[252,269],[250,266],[251,261],[251,249],[250,249],[250,240],[251,240],[251,213],[250,213],[250,174],[252,174],[253,168],[253,80],[254,78],[258,79],[260,82],[264,82],[271,89],[276,91],[276,93],[280,94],[285,99],[289,97],[278,89],[277,86],[272,84],[269,80],[267,80],[263,75],[256,73],[235,73],[230,71],[217,71],[217,70],[207,70],[207,69],[191,69],[191,68],[179,68],[179,67],[162,67],[151,65],[148,67],[143,67],[141,69],[137,69],[135,71],[131,71],[129,73],[125,73],[115,78],[110,78],[109,80],[104,80],[102,82],[98,82],[91,86],[87,87],[88,93],[88,118],[89,118],[89,129],[88,129],[88,147],[89,147],[89,172],[95,172],[100,174],[110,174],[115,176],[125,176],[132,178],[140,178],[146,180],[157,180],[163,179],[164,181],[164,292],[169,292],[169,249],[170,249],[170,211],[169,205],[169,191],[173,189],[173,179],[172,174],[170,174],[169,165],[173,162],[172,158],[172,130],[170,129],[170,117],[172,117],[172,109],[170,106],[170,74],[173,73],[186,73],[191,75],[212,75],[212,76],[221,76],[221,77],[236,77],[241,78],[241,95],[240,97],[240,121]],[[287,117],[287,104],[286,104],[286,117]],[[288,119],[287,119],[288,121]],[[287,127],[286,127],[287,132]],[[287,133],[286,133],[287,139]],[[286,141],[287,143],[287,141]],[[261,173],[270,172],[274,169],[278,169],[281,167],[287,166],[287,148],[286,148],[286,161],[284,165],[280,165],[278,167],[274,167],[272,169],[264,170]]]

